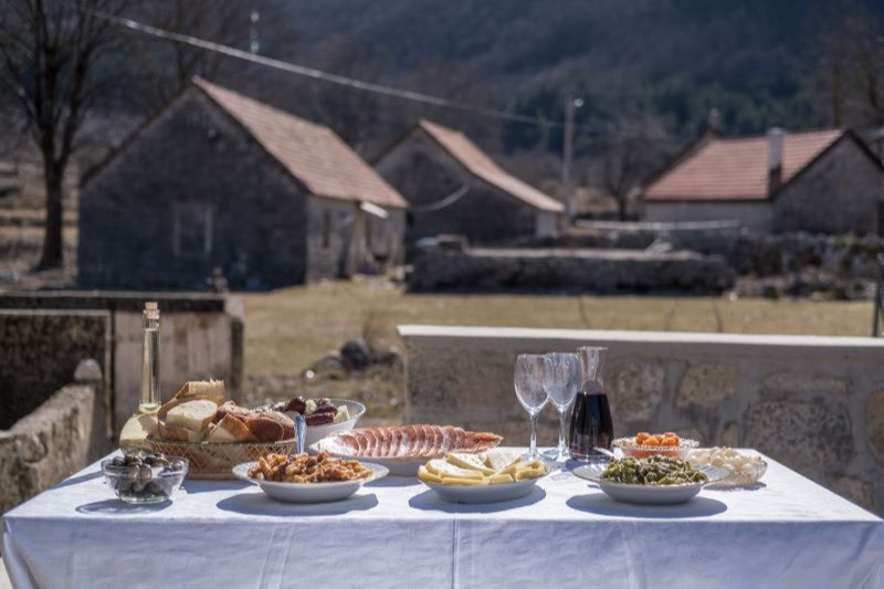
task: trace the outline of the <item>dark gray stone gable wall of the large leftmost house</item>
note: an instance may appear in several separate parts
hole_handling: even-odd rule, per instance
[[[191,90],[86,183],[78,281],[207,288],[221,267],[235,287],[301,283],[306,229],[288,172]]]

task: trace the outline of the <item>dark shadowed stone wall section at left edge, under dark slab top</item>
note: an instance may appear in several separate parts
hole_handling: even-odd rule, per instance
[[[0,309],[0,430],[70,382],[83,358],[106,369],[112,333],[108,312]]]

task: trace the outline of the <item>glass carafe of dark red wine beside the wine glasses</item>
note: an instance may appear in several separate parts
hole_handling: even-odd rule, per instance
[[[601,376],[606,351],[608,348],[577,348],[583,378],[575,400],[568,437],[568,449],[577,460],[607,460],[593,448],[610,450],[613,441],[611,406]]]

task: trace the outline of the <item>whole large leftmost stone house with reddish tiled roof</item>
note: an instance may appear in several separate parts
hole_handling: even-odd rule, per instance
[[[407,202],[335,133],[194,77],[84,180],[78,282],[264,288],[402,257]]]

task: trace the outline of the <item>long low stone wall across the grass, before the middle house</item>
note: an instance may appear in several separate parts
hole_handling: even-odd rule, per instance
[[[409,290],[719,293],[734,272],[718,257],[624,250],[421,248]]]

